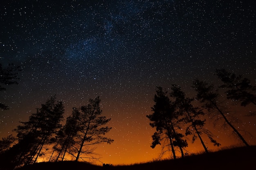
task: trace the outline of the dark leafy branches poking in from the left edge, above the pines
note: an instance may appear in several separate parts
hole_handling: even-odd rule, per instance
[[[0,64],[0,91],[6,91],[6,88],[2,85],[18,84],[18,72],[21,71],[20,66],[14,66],[9,64],[7,68],[3,68]],[[0,102],[0,108],[7,110],[8,106]]]

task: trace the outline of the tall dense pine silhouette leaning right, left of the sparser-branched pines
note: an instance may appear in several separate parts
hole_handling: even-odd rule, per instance
[[[35,163],[41,154],[43,146],[51,143],[52,135],[61,127],[64,106],[62,102],[56,103],[56,97],[51,97],[32,113],[29,121],[20,122],[15,131],[17,132],[18,148],[16,153],[16,164]]]

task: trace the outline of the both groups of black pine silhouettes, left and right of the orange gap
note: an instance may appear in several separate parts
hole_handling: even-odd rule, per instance
[[[220,88],[226,90],[227,99],[240,102],[241,106],[256,106],[256,86],[249,79],[224,69],[216,70],[216,76],[222,81]],[[204,128],[206,111],[207,117],[214,113],[212,119],[213,115],[222,117],[225,124],[249,146],[222,109],[218,88],[198,79],[193,81],[191,88],[195,90],[195,97],[187,97],[181,87],[175,84],[168,91],[162,87],[156,88],[153,113],[146,116],[150,120],[150,126],[156,129],[152,135],[151,147],[161,144],[162,153],[171,150],[171,156],[176,159],[177,150],[182,157],[186,155],[186,136],[191,136],[192,143],[200,141],[207,153],[205,141],[209,140],[214,146],[220,146],[214,135]],[[28,121],[20,122],[14,129],[16,137],[9,135],[0,140],[0,160],[3,162],[0,169],[9,170],[33,164],[39,158],[44,158],[44,161],[97,159],[94,157],[93,146],[113,142],[113,139],[104,137],[111,129],[106,126],[110,118],[101,115],[99,104],[100,98],[96,97],[90,99],[85,106],[73,108],[72,115],[67,117],[63,125],[63,103],[56,101],[56,96],[51,97],[37,108],[36,113],[29,116]]]

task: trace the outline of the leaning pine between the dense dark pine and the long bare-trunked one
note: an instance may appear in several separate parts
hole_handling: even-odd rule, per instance
[[[214,146],[220,146],[220,144],[213,139],[213,135],[209,130],[203,128],[205,124],[205,119],[199,119],[200,116],[204,115],[202,109],[195,107],[191,104],[193,102],[193,98],[185,97],[185,93],[181,90],[180,86],[173,84],[171,86],[170,96],[174,98],[174,103],[177,106],[178,115],[183,115],[180,120],[185,122],[186,135],[193,135],[192,142],[198,137],[202,146],[204,147],[205,152],[208,153],[207,147],[202,140],[201,135],[204,133],[208,136],[210,141]],[[195,131],[195,132],[194,132]]]

